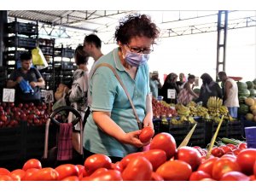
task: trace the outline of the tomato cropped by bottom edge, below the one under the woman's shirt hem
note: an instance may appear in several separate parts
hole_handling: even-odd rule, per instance
[[[85,177],[84,177],[85,178]],[[86,181],[85,178],[84,181]],[[121,172],[117,170],[108,170],[107,172],[102,172],[96,177],[89,177],[89,181],[122,181]]]

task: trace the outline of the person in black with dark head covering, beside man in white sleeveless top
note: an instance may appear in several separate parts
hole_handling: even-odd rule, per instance
[[[203,84],[201,85],[200,95],[195,102],[202,102],[202,106],[207,108],[207,101],[210,96],[222,99],[222,90],[208,73],[203,73],[201,79]]]

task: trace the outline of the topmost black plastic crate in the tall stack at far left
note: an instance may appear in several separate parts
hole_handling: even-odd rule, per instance
[[[38,26],[34,23],[20,23],[14,21],[11,23],[7,23],[6,26],[8,33],[19,33],[27,36],[38,34]]]

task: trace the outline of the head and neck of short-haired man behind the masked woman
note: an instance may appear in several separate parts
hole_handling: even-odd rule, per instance
[[[90,34],[84,38],[84,52],[97,61],[102,54],[102,40],[96,34]]]

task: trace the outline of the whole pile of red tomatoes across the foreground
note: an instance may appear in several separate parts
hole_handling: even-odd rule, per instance
[[[106,155],[94,154],[83,166],[43,168],[39,160],[32,159],[12,172],[0,168],[0,181],[255,181],[256,149],[245,144],[231,147],[223,147],[221,152],[214,148],[207,159],[205,149],[177,149],[171,134],[160,133],[153,137],[148,151],[128,154],[116,163]],[[241,150],[235,152],[235,147]]]

